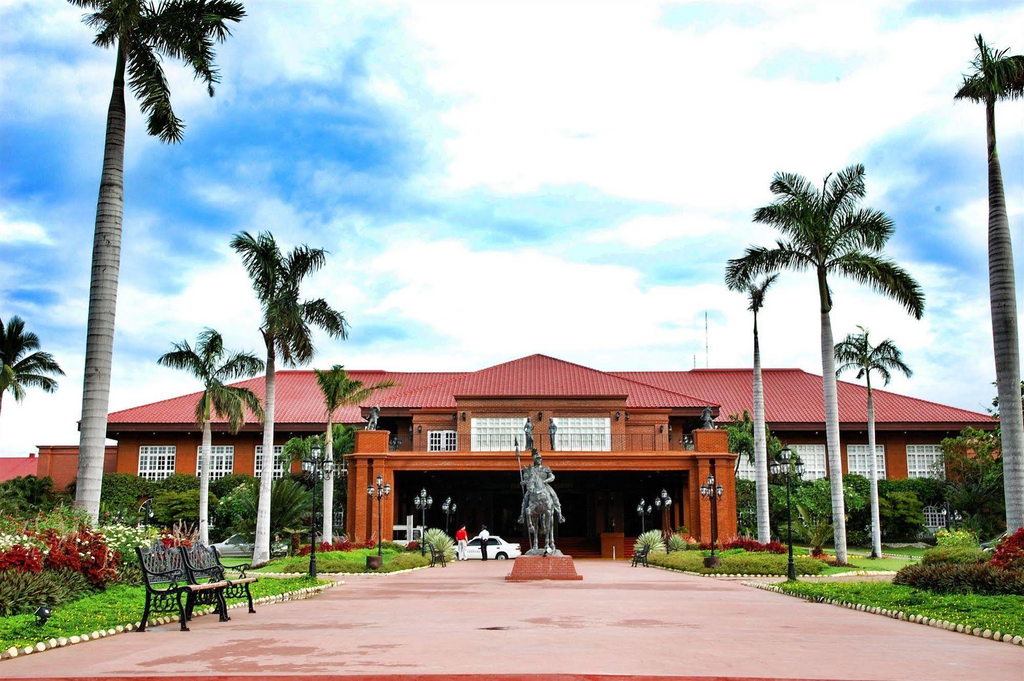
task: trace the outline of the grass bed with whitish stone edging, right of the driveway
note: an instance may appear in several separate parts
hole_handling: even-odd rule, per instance
[[[1024,596],[935,594],[885,582],[751,583],[751,586],[1024,645]]]

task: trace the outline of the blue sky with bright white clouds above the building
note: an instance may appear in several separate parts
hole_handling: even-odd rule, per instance
[[[205,326],[257,350],[230,235],[330,250],[310,282],[348,341],[315,365],[471,370],[532,352],[599,369],[750,365],[725,260],[778,170],[851,163],[928,296],[921,322],[836,282],[837,337],[892,337],[895,389],[971,409],[993,390],[983,111],[952,101],[981,32],[1017,51],[1020,3],[249,2],[217,95],[168,73],[184,141],[129,102],[112,409],[195,388],[156,366]],[[89,258],[114,55],[80,10],[0,2],[0,318],[68,372],[7,399],[0,454],[77,441]],[[1014,28],[1017,30],[1012,30]],[[1014,236],[1024,102],[1000,104]],[[1024,248],[1018,245],[1018,253]],[[1020,266],[1020,263],[1019,263]],[[767,366],[819,372],[816,293],[784,274]]]

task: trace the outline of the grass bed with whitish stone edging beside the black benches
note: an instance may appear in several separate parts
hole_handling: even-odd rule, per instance
[[[309,590],[322,590],[334,586],[328,580],[309,578],[273,579],[263,578],[252,585],[254,600],[283,600],[285,597],[308,595]],[[228,599],[228,604],[240,603],[243,599]],[[88,641],[112,633],[131,631],[138,627],[145,602],[145,588],[113,586],[99,593],[86,596],[72,603],[54,608],[52,616],[43,626],[38,626],[32,614],[16,614],[0,618],[0,651],[3,657],[43,650],[49,647]],[[205,608],[208,610],[209,608]],[[197,608],[197,614],[200,609]],[[157,618],[160,621],[174,618]],[[194,632],[194,636],[197,634]],[[77,640],[76,640],[77,639]],[[61,644],[60,641],[63,641]],[[53,645],[50,645],[50,642]],[[42,644],[42,647],[38,647]],[[25,648],[31,648],[26,650]]]

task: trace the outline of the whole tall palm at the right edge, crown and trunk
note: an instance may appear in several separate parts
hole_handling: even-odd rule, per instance
[[[1017,285],[1014,252],[1002,190],[1002,170],[995,151],[995,102],[1024,96],[1024,55],[993,50],[979,35],[973,71],[954,98],[985,102],[985,138],[988,148],[988,293],[992,310],[995,382],[999,401],[1016,405],[1020,398],[1020,349],[1017,339]],[[1024,526],[1024,418],[1019,410],[1000,415],[1002,466],[1007,498],[1007,527]]]

